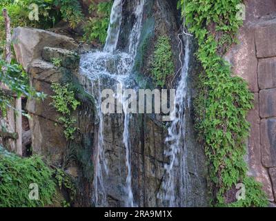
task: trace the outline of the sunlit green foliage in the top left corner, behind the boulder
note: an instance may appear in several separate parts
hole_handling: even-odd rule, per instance
[[[33,10],[30,4],[39,7],[39,21],[29,19],[29,13]],[[56,23],[68,21],[71,28],[75,28],[83,20],[81,5],[77,0],[6,0],[0,2],[0,46],[3,50],[5,42],[5,23],[2,9],[8,10],[12,28],[18,26],[31,26],[34,28],[53,28]]]

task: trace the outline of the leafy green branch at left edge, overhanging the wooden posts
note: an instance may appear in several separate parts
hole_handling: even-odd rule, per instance
[[[43,93],[38,93],[34,88],[28,84],[28,75],[23,71],[23,68],[17,64],[6,64],[0,59],[0,81],[5,84],[11,91],[20,97],[24,95],[34,99],[44,99],[46,97]],[[6,115],[7,108],[12,108],[10,102],[12,98],[10,95],[0,89],[0,110],[3,115]]]

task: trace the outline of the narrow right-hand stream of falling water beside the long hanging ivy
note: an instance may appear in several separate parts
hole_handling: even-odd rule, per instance
[[[168,129],[166,143],[169,148],[165,155],[169,157],[169,164],[165,165],[164,193],[162,198],[168,201],[168,206],[189,206],[190,176],[187,166],[186,150],[186,108],[188,101],[188,67],[190,61],[190,43],[185,35],[184,64],[181,69],[181,78],[178,82],[173,120]]]

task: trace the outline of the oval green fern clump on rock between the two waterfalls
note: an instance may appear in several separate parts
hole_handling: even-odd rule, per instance
[[[151,75],[155,83],[157,86],[163,87],[166,84],[166,78],[172,75],[175,70],[172,61],[172,47],[168,36],[161,36],[157,39],[151,66]]]

